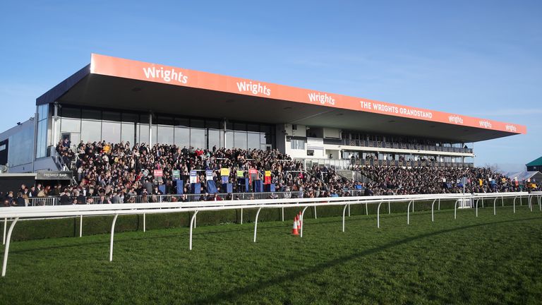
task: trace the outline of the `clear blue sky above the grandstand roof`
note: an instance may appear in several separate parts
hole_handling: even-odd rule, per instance
[[[542,1],[5,1],[0,131],[90,53],[527,126],[474,145],[542,155]]]

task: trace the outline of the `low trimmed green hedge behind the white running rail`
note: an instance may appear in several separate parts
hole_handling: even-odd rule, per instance
[[[414,209],[430,210],[432,201],[416,202]],[[455,201],[441,201],[440,208],[453,209]],[[391,203],[391,213],[406,213],[406,202]],[[497,204],[502,205],[500,199]],[[526,201],[524,201],[526,204]],[[505,199],[505,205],[512,205],[512,199]],[[517,201],[519,205],[519,201]],[[368,214],[376,214],[377,206],[375,204],[368,205]],[[478,205],[481,206],[481,203]],[[493,201],[486,200],[486,207],[493,206]],[[344,205],[322,206],[316,208],[317,217],[333,217],[342,216]],[[284,220],[292,221],[299,211],[299,208],[284,208]],[[437,210],[437,203],[435,203]],[[243,210],[243,223],[251,223],[255,219],[257,209]],[[365,205],[351,205],[351,215],[365,215]],[[384,202],[380,208],[380,213],[385,215],[388,213],[387,202]],[[147,214],[146,229],[164,229],[176,227],[188,227],[193,213],[168,213],[168,214]],[[281,220],[282,211],[279,208],[263,209],[260,212],[258,221],[279,221]],[[305,218],[314,217],[314,208],[310,207],[306,210]],[[44,239],[52,237],[78,237],[79,236],[79,217],[52,219],[52,220],[24,220],[19,221],[13,230],[12,240],[22,241],[28,239]],[[92,216],[83,217],[83,236],[93,234],[104,234],[111,232],[111,224],[113,216]],[[241,210],[221,210],[221,211],[205,211],[198,213],[197,225],[220,225],[228,223],[241,222]],[[9,228],[10,222],[8,222]],[[1,226],[1,231],[4,230],[4,224]],[[115,232],[126,232],[143,230],[143,215],[121,215],[116,221]]]

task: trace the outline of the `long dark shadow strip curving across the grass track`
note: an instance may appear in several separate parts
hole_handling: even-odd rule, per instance
[[[321,273],[322,270],[324,270],[324,269],[332,268],[332,267],[335,267],[337,265],[347,263],[348,261],[352,261],[352,260],[357,259],[357,258],[362,258],[363,256],[369,256],[371,254],[375,254],[375,253],[378,253],[380,251],[385,251],[385,250],[391,249],[391,248],[393,248],[395,246],[401,246],[403,244],[408,244],[408,243],[410,243],[412,241],[416,241],[418,239],[425,239],[427,237],[434,237],[434,236],[437,236],[437,235],[440,235],[440,234],[446,234],[446,233],[450,233],[450,232],[457,232],[457,231],[460,231],[460,230],[463,230],[463,229],[472,229],[472,228],[476,228],[476,227],[485,227],[485,226],[489,226],[489,225],[497,225],[497,224],[511,223],[511,222],[522,222],[522,221],[525,221],[525,220],[539,220],[539,219],[540,219],[540,217],[530,217],[530,218],[522,218],[521,220],[502,220],[502,221],[498,221],[498,222],[486,222],[486,223],[482,223],[482,224],[468,225],[468,226],[465,226],[465,227],[456,227],[456,228],[452,228],[452,229],[442,229],[442,230],[439,230],[439,231],[430,232],[430,233],[426,233],[426,234],[419,234],[419,235],[416,235],[414,237],[407,237],[405,239],[399,239],[397,241],[391,241],[391,242],[389,242],[387,244],[383,244],[382,246],[378,246],[378,247],[373,248],[373,249],[368,249],[366,251],[361,251],[359,253],[354,253],[354,254],[351,254],[349,256],[342,256],[340,258],[335,258],[332,261],[327,261],[325,263],[320,263],[320,264],[315,265],[315,266],[313,266],[311,268],[307,268],[307,269],[304,269],[304,270],[296,270],[295,272],[290,272],[290,273],[287,273],[286,275],[273,277],[273,278],[271,278],[269,280],[255,282],[255,283],[253,283],[251,285],[247,285],[245,287],[230,289],[227,292],[220,292],[219,294],[214,294],[214,295],[211,295],[211,296],[208,296],[208,297],[203,297],[201,299],[197,299],[195,301],[195,304],[215,304],[218,301],[224,301],[224,300],[234,301],[235,299],[238,299],[239,297],[243,296],[243,294],[248,294],[248,293],[251,293],[251,292],[254,292],[254,291],[258,291],[260,289],[265,289],[267,287],[271,287],[273,285],[279,285],[281,283],[288,282],[288,281],[296,281],[301,277],[311,275],[313,273]]]

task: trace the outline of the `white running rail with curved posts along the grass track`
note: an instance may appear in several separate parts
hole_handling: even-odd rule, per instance
[[[97,215],[114,215],[111,227],[111,240],[109,245],[109,261],[113,260],[113,241],[116,219],[119,215],[143,215],[145,226],[146,214],[159,213],[187,213],[192,212],[190,222],[190,239],[188,249],[192,249],[192,232],[195,228],[196,216],[200,212],[210,210],[234,210],[253,208],[258,209],[254,221],[254,238],[256,241],[256,233],[258,230],[258,216],[263,208],[280,208],[282,209],[282,219],[284,220],[284,208],[303,208],[301,212],[301,237],[303,237],[303,215],[307,208],[313,207],[316,210],[318,206],[340,205],[344,206],[342,213],[342,231],[345,229],[345,217],[347,208],[350,205],[365,205],[366,209],[369,204],[378,205],[377,208],[377,227],[380,227],[380,206],[387,202],[398,203],[408,202],[406,208],[406,223],[410,223],[411,210],[414,212],[414,204],[420,201],[432,201],[431,204],[431,219],[434,221],[434,205],[440,201],[455,201],[454,218],[457,218],[457,205],[459,202],[470,201],[474,203],[476,208],[476,217],[478,217],[478,203],[482,205],[484,201],[493,201],[493,214],[496,215],[496,204],[500,199],[504,205],[505,198],[514,198],[514,213],[516,211],[516,201],[519,198],[522,201],[526,198],[531,212],[532,201],[538,201],[538,207],[542,211],[542,192],[537,193],[475,193],[475,194],[435,194],[435,195],[408,195],[408,196],[366,196],[366,197],[334,197],[334,198],[284,198],[284,199],[260,199],[252,201],[201,201],[188,203],[122,203],[110,205],[58,205],[58,206],[34,206],[34,207],[16,207],[0,209],[0,219],[4,218],[4,242],[6,244],[4,250],[4,262],[2,265],[2,277],[6,275],[6,266],[8,262],[9,245],[11,234],[18,220],[23,219],[43,219],[48,217],[80,217],[80,229],[83,225],[83,216]],[[6,225],[8,219],[13,220],[7,232]]]

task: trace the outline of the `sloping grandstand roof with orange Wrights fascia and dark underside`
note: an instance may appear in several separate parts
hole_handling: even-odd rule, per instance
[[[489,119],[92,54],[36,104],[152,111],[476,142],[526,133]]]

